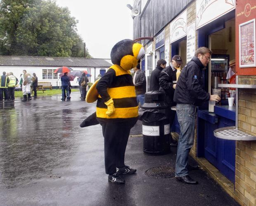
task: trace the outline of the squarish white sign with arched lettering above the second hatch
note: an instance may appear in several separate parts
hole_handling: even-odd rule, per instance
[[[187,35],[187,9],[170,23],[170,43]]]

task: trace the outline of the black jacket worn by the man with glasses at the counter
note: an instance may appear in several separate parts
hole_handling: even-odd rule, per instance
[[[177,104],[199,106],[209,101],[210,94],[204,90],[203,68],[204,65],[197,57],[193,57],[183,68],[174,92],[173,99]]]

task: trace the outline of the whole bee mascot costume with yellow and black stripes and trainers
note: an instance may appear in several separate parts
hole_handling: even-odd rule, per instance
[[[138,104],[130,69],[137,66],[145,55],[143,46],[133,40],[125,39],[116,43],[111,50],[112,65],[108,71],[95,81],[86,95],[86,102],[97,100],[96,113],[86,118],[81,127],[102,125],[104,136],[105,170],[108,180],[123,184],[120,175],[136,172],[124,164],[126,145],[130,129],[138,117]]]

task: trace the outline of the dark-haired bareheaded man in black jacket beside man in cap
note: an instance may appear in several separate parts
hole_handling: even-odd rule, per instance
[[[166,61],[164,59],[159,59],[156,63],[156,69],[154,69],[150,76],[150,91],[159,90],[159,76],[160,72],[165,68]]]

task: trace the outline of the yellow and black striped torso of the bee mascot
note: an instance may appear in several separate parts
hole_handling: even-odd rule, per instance
[[[115,77],[113,83],[107,88],[107,92],[114,101],[116,111],[111,116],[107,116],[107,105],[104,104],[104,100],[99,95],[96,106],[97,118],[137,118],[138,104],[130,71],[126,71],[116,64],[109,69],[115,71]]]

